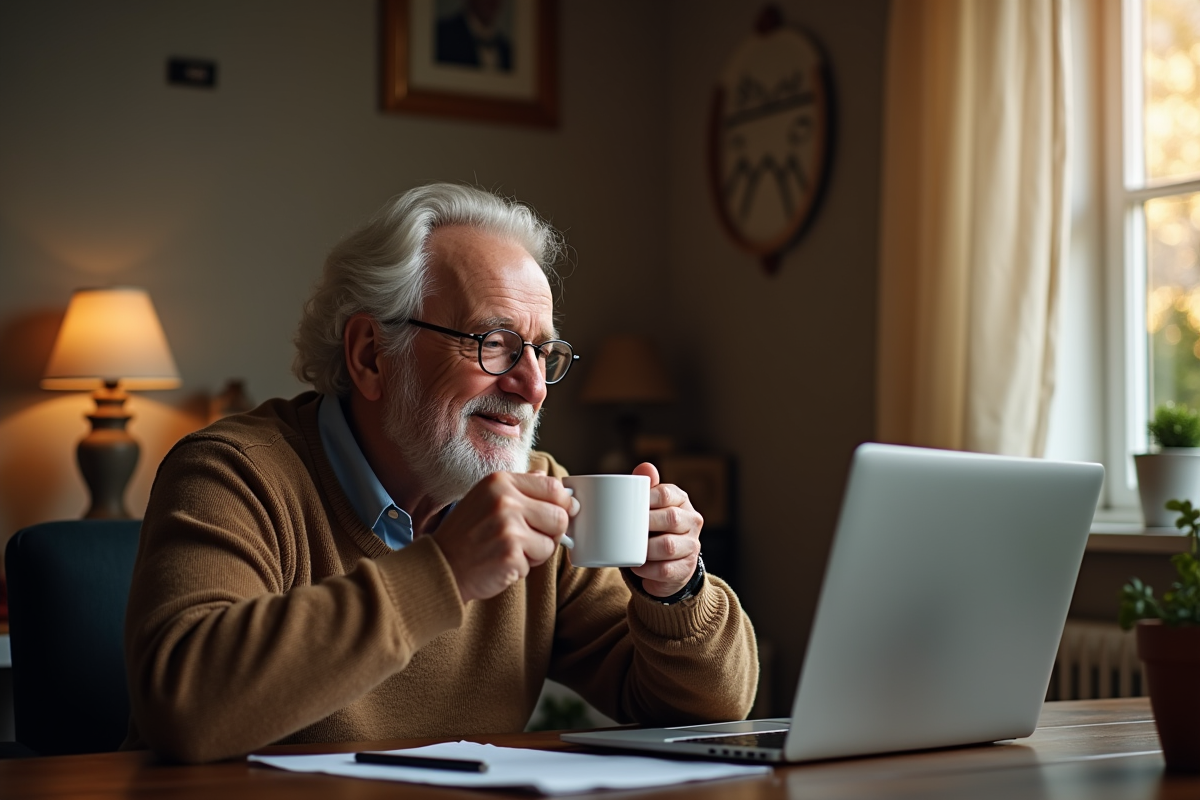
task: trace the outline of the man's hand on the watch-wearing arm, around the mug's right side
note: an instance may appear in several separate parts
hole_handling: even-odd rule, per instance
[[[654,464],[642,463],[634,475],[650,477],[650,542],[646,564],[635,566],[642,588],[655,597],[670,597],[688,585],[700,558],[700,529],[704,518],[691,507],[688,493],[659,480]]]

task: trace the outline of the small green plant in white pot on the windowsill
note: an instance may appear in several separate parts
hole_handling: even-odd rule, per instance
[[[1156,452],[1134,456],[1138,493],[1146,528],[1170,528],[1171,499],[1200,506],[1200,413],[1187,405],[1164,403],[1146,425]]]

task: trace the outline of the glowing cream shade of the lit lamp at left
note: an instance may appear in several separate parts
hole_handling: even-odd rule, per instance
[[[80,289],[71,295],[42,389],[174,389],[179,371],[145,289]]]

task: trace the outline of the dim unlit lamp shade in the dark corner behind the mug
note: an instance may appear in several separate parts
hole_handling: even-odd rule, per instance
[[[654,345],[644,336],[610,336],[588,372],[584,403],[670,403],[674,389]]]

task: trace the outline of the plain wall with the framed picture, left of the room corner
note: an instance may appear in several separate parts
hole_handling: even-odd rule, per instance
[[[566,231],[563,331],[580,351],[610,326],[653,326],[666,6],[564,4],[554,131],[379,112],[378,12],[374,0],[0,6],[0,543],[86,505],[72,449],[89,401],[36,387],[78,287],[146,287],[184,378],[131,401],[145,451],[134,513],[166,449],[199,423],[198,395],[230,377],[258,399],[302,389],[290,338],[325,253],[415,184],[493,187]],[[167,86],[170,55],[217,60],[216,91]],[[582,465],[606,420],[574,403],[572,379],[547,404],[542,445]]]

